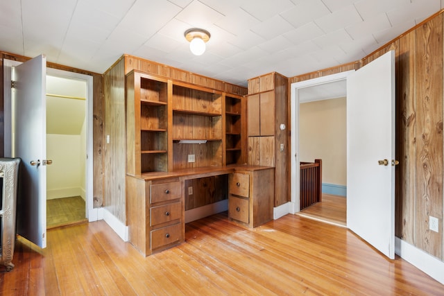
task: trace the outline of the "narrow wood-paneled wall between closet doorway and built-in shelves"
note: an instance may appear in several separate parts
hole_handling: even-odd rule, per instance
[[[105,207],[126,224],[126,107],[124,60],[114,65],[104,77],[105,107],[103,132],[110,135],[104,149]]]

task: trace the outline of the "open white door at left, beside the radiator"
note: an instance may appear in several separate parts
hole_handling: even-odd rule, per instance
[[[13,68],[12,156],[22,159],[17,234],[46,247],[46,57]]]

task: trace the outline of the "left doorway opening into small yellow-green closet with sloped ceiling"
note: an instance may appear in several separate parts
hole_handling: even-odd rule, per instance
[[[86,219],[85,80],[46,75],[46,228]]]

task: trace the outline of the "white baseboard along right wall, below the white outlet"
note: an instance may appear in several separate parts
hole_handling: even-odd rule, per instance
[[[444,285],[444,262],[395,237],[395,253]]]

